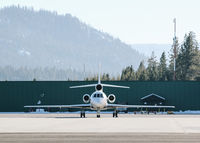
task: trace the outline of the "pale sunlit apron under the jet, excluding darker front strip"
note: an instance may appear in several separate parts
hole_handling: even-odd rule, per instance
[[[200,115],[0,114],[0,133],[13,132],[200,133]]]

